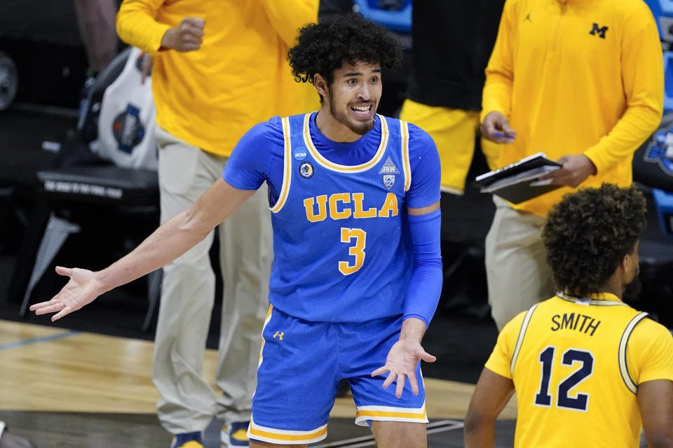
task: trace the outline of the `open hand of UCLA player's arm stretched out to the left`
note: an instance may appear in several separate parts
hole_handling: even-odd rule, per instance
[[[30,310],[35,314],[56,313],[51,321],[57,321],[66,314],[77,311],[102,294],[100,283],[95,272],[77,267],[56,267],[57,274],[69,276],[70,280],[52,300],[31,305]]]

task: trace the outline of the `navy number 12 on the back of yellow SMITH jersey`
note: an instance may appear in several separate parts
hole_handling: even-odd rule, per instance
[[[535,404],[537,406],[550,407],[552,405],[550,381],[552,378],[552,369],[554,367],[555,353],[556,347],[551,345],[541,351],[540,357],[538,358],[542,365],[542,372],[540,391],[535,394]],[[586,411],[587,405],[589,404],[589,394],[576,393],[576,395],[571,396],[570,391],[590,377],[594,372],[594,356],[590,351],[580,349],[567,349],[564,351],[561,356],[561,365],[572,367],[575,363],[580,363],[580,367],[559,383],[556,395],[556,406],[564,409]]]

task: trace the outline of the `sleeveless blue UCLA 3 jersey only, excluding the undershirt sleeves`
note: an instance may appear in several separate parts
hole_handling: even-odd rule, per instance
[[[378,150],[348,166],[318,153],[311,116],[282,120],[283,185],[271,207],[269,300],[311,321],[402,314],[412,265],[405,225],[407,123],[379,116]]]

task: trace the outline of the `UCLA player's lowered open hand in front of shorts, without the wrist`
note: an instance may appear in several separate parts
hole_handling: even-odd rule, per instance
[[[395,397],[400,398],[405,388],[405,379],[409,378],[409,385],[412,386],[414,395],[419,395],[419,381],[416,379],[416,365],[422,359],[428,363],[433,363],[437,358],[426,353],[423,346],[413,339],[400,339],[390,347],[386,357],[386,365],[379,367],[372,372],[372,377],[386,372],[388,377],[383,381],[383,388],[387,388],[397,379],[395,386]]]

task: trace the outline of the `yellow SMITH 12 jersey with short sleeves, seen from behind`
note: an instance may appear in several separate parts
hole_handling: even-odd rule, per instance
[[[615,295],[559,294],[505,325],[486,367],[514,382],[515,447],[637,448],[638,386],[673,381],[673,337]]]

